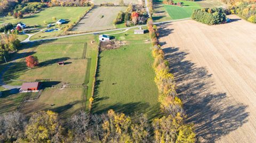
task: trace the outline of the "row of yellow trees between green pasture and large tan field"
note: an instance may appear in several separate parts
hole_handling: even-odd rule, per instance
[[[158,44],[157,27],[153,25],[153,19],[147,22],[149,36],[153,45],[153,68],[156,73],[155,82],[159,90],[158,102],[164,116],[155,119],[153,124],[156,142],[195,142],[194,125],[186,124],[186,113],[183,103],[177,95],[177,86],[174,75],[170,73],[169,62],[164,58],[164,52]],[[171,122],[171,123],[168,123]],[[167,129],[167,130],[164,130]]]

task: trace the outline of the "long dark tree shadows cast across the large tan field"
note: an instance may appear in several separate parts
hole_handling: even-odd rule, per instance
[[[162,31],[161,31],[162,32]],[[195,123],[199,140],[214,142],[247,122],[247,106],[237,104],[223,92],[211,91],[214,83],[204,67],[185,60],[188,53],[178,47],[163,49],[183,99],[187,122]]]

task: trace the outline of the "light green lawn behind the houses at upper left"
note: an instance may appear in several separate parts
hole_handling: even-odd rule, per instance
[[[34,15],[27,15],[22,19],[14,19],[13,16],[6,16],[0,18],[0,25],[2,23],[17,23],[24,22],[27,26],[41,26],[46,27],[44,21],[47,23],[55,23],[59,19],[65,19],[71,23],[76,22],[78,17],[85,13],[89,7],[49,7]],[[56,21],[52,17],[57,18]]]

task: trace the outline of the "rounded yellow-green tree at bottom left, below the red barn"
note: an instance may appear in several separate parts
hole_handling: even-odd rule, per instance
[[[39,111],[30,117],[25,134],[30,142],[60,142],[61,130],[57,113]]]

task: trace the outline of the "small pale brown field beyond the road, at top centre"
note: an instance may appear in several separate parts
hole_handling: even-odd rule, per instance
[[[71,31],[96,31],[114,29],[113,21],[126,7],[95,7]],[[103,16],[102,16],[103,15]]]

